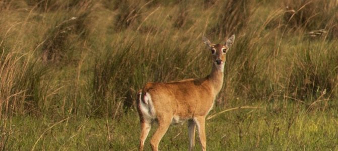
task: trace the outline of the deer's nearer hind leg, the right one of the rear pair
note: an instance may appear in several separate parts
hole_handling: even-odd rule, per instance
[[[158,150],[158,144],[164,136],[165,132],[168,130],[172,118],[171,117],[161,117],[158,119],[158,128],[156,129],[154,135],[151,137],[150,145],[152,150]]]

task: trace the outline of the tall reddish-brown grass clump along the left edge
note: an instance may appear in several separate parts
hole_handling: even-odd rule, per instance
[[[0,58],[0,147],[6,150],[15,115],[38,115],[45,111],[48,85],[42,85],[43,68],[30,62],[31,55],[2,52]]]

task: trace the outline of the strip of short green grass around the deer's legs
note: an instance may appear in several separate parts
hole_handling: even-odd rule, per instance
[[[338,149],[337,110],[307,111],[306,105],[295,102],[288,102],[287,106],[273,102],[252,105],[261,108],[233,110],[207,120],[208,150]],[[216,108],[210,114],[221,110]],[[140,127],[135,111],[114,120],[111,117],[62,120],[13,117],[6,150],[30,150],[33,146],[35,150],[135,150],[138,147]],[[156,127],[153,125],[149,133],[146,150],[150,150],[149,138]],[[172,125],[160,142],[160,149],[187,150],[188,140],[186,123]],[[201,149],[198,137],[195,148]]]

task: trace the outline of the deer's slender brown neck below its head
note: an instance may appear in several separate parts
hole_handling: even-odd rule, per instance
[[[212,63],[212,69],[207,76],[207,80],[210,82],[217,95],[223,85],[223,67],[218,68],[215,63]]]

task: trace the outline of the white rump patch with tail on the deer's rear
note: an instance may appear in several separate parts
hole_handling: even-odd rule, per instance
[[[143,95],[142,98],[142,93],[140,94],[140,109],[142,111],[143,116],[146,118],[153,119],[155,118],[155,109],[152,104],[151,96],[149,93],[146,93]]]

